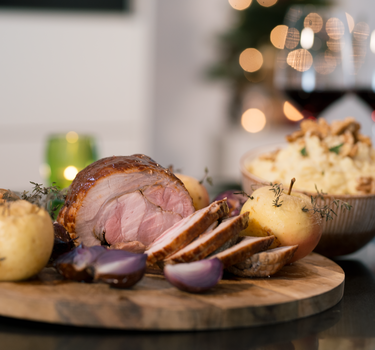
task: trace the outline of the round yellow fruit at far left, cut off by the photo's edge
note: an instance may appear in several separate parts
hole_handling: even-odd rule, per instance
[[[27,201],[0,206],[0,281],[19,281],[37,274],[48,262],[54,242],[52,220]]]

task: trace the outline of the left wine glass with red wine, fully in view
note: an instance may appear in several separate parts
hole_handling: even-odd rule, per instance
[[[293,101],[299,119],[317,118],[352,90],[355,69],[349,25],[350,16],[340,9],[293,6],[285,25],[279,26],[285,43],[276,60],[275,87]]]

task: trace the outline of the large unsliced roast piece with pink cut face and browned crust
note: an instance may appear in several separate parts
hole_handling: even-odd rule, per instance
[[[142,154],[100,159],[72,182],[57,221],[86,246],[150,245],[194,212],[183,183]]]

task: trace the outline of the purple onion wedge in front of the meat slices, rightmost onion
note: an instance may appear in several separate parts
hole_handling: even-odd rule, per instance
[[[219,283],[223,276],[223,264],[215,258],[186,264],[166,265],[164,276],[178,289],[190,293],[202,293]]]

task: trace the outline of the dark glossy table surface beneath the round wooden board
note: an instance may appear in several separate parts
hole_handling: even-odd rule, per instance
[[[335,262],[346,275],[343,299],[304,319],[234,330],[136,332],[0,317],[0,349],[375,349],[375,240]]]

